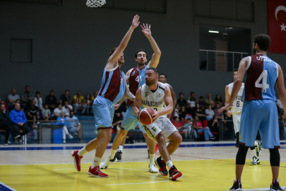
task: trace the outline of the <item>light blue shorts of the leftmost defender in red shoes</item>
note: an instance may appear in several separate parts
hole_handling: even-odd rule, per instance
[[[95,132],[103,128],[112,128],[114,117],[114,103],[107,98],[97,96],[93,102],[95,116]]]

